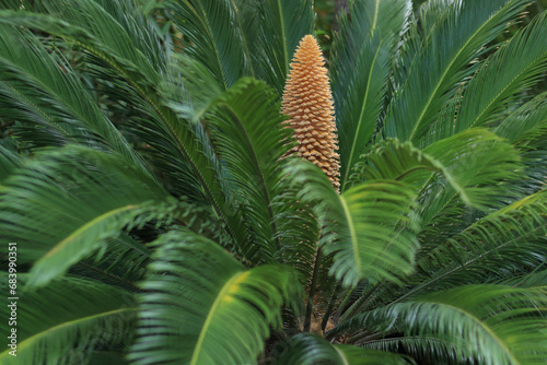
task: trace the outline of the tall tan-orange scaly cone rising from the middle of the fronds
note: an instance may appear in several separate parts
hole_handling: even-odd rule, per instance
[[[319,166],[338,189],[339,156],[333,94],[319,45],[312,35],[300,42],[283,92],[282,111],[294,129],[292,150]]]

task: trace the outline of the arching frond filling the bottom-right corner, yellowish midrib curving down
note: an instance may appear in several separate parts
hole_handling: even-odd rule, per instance
[[[374,323],[385,331],[404,333],[393,343],[389,338],[363,338],[361,345],[394,349],[405,338],[418,353],[435,351],[431,340],[454,344],[444,352],[444,362],[480,364],[543,364],[547,356],[544,286],[515,289],[503,285],[469,285],[431,293],[411,302],[398,303],[360,315],[342,328],[364,328]],[[386,349],[387,348],[387,349]],[[409,350],[411,350],[411,348]],[[457,349],[457,350],[456,350]],[[439,356],[441,353],[432,353]]]

